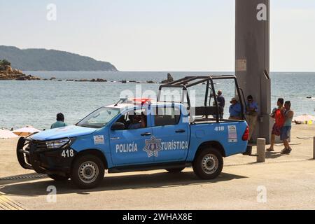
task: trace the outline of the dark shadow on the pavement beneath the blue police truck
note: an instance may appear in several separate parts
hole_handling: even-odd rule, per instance
[[[233,179],[244,179],[246,176],[237,176],[234,174],[222,173],[215,180],[201,180],[193,172],[182,172],[180,174],[170,174],[162,172],[158,174],[137,174],[129,176],[107,176],[98,188],[91,190],[80,190],[74,186],[71,181],[57,182],[50,179],[32,181],[28,183],[13,183],[2,186],[0,191],[6,195],[20,195],[36,197],[48,195],[47,187],[55,186],[57,194],[77,193],[80,195],[89,195],[92,192],[102,192],[111,190],[127,189],[148,189],[148,188],[173,188],[179,186],[192,186],[217,183],[222,181],[231,181]]]

